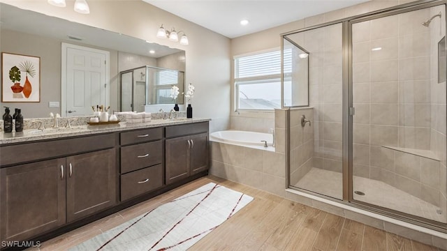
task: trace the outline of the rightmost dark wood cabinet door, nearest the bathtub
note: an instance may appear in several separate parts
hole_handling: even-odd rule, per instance
[[[203,172],[208,169],[208,134],[201,133],[191,136],[190,149],[190,170],[191,175]]]

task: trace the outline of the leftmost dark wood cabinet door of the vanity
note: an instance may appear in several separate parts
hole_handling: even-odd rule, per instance
[[[64,225],[65,158],[0,169],[1,241],[22,241]]]

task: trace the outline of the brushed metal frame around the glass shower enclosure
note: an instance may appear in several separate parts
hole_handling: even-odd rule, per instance
[[[434,6],[444,5],[447,8],[447,0],[420,0],[411,3],[404,3],[398,6],[393,6],[390,8],[384,8],[381,10],[375,10],[370,13],[355,15],[352,17],[346,17],[340,20],[335,20],[332,22],[326,22],[323,24],[317,24],[314,26],[309,26],[303,29],[297,29],[295,31],[289,31],[286,33],[281,33],[281,50],[284,48],[283,38],[284,36],[291,35],[293,33],[298,33],[302,31],[309,31],[312,29],[322,28],[324,26],[329,26],[332,24],[342,23],[342,159],[343,159],[343,199],[335,199],[328,197],[327,195],[321,195],[316,192],[309,190],[304,190],[301,188],[296,188],[290,184],[290,152],[289,148],[286,146],[286,188],[291,188],[293,190],[298,190],[305,192],[309,195],[316,195],[318,197],[323,197],[332,201],[337,201],[338,203],[346,204],[356,208],[363,209],[365,211],[372,211],[379,213],[381,215],[389,216],[390,218],[395,218],[397,220],[402,220],[404,222],[409,222],[413,225],[419,225],[422,227],[427,227],[429,229],[434,229],[436,231],[441,231],[447,233],[447,223],[436,222],[433,220],[428,220],[427,218],[421,218],[416,215],[406,214],[400,211],[394,211],[390,208],[383,208],[381,206],[376,206],[374,204],[368,204],[362,201],[356,201],[353,199],[353,91],[352,91],[352,24],[363,22],[366,20],[374,20],[380,17],[386,17],[389,15],[398,15],[401,13],[407,13],[413,10],[420,10],[423,8],[430,8]],[[446,11],[447,13],[447,11]],[[447,23],[447,17],[444,17]],[[446,25],[447,27],[447,25]],[[447,28],[446,28],[447,29]],[[282,53],[281,53],[282,56]],[[282,68],[282,58],[281,58],[281,68]],[[281,80],[282,79],[281,71]],[[281,83],[281,98],[284,91],[284,86]],[[290,109],[293,107],[284,107],[285,109]],[[288,114],[288,113],[287,113]],[[288,119],[288,118],[287,118]],[[286,130],[287,131],[287,130]],[[286,135],[286,144],[290,144],[288,140],[288,135]]]

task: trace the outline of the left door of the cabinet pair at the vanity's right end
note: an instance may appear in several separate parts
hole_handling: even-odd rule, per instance
[[[189,176],[189,136],[166,139],[166,184]]]

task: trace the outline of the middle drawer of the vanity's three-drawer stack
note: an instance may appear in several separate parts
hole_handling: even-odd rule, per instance
[[[121,148],[121,173],[161,164],[162,159],[163,144],[161,140],[123,146]]]

